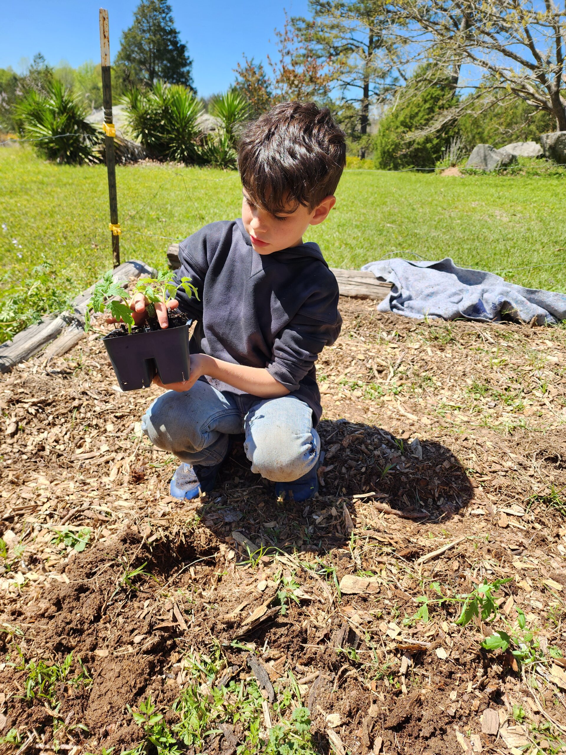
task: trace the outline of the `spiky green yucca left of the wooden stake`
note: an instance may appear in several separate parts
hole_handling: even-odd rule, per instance
[[[46,94],[30,89],[18,103],[16,117],[26,139],[50,160],[67,165],[97,162],[93,148],[102,140],[96,126],[85,120],[87,107],[78,94],[53,79]]]

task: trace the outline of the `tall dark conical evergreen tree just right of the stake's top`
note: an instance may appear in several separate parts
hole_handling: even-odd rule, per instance
[[[122,33],[114,63],[126,86],[152,85],[163,79],[195,91],[192,60],[180,41],[166,0],[141,0],[134,11],[134,23]]]

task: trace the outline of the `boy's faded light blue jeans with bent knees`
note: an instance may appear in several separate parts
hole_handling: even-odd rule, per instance
[[[294,396],[257,400],[197,381],[186,393],[155,399],[141,424],[153,445],[203,467],[223,461],[228,436],[244,433],[251,471],[272,482],[299,479],[320,454],[312,410]]]

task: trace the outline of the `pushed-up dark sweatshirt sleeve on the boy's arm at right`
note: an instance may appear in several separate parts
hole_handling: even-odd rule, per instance
[[[328,271],[330,272],[330,271]],[[312,369],[318,354],[331,346],[340,334],[342,318],[338,312],[338,285],[312,294],[289,325],[275,337],[272,361],[266,365],[275,380],[291,393]]]

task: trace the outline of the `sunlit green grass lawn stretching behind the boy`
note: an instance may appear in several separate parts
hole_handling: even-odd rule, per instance
[[[163,266],[171,241],[239,214],[235,173],[135,165],[118,168],[117,181],[123,260]],[[415,253],[566,291],[564,177],[351,170],[337,197],[329,220],[306,236],[334,267]],[[0,149],[0,224],[6,225],[0,230],[0,301],[41,263],[51,264],[57,291],[82,291],[110,267],[108,222],[103,165],[51,165],[26,148]]]

